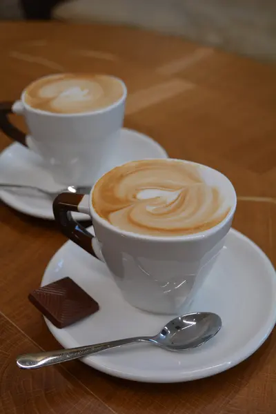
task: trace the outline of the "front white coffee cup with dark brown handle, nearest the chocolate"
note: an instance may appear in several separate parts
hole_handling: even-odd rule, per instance
[[[183,312],[224,246],[237,203],[228,178],[213,168],[200,168],[207,184],[219,187],[229,201],[226,217],[201,233],[156,237],[121,230],[97,214],[93,188],[90,195],[59,195],[53,205],[55,219],[63,234],[106,263],[130,304],[153,313]],[[72,219],[71,211],[90,215],[96,237]]]

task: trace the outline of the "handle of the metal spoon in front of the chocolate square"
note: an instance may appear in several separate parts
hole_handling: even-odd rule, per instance
[[[79,348],[59,349],[57,351],[30,353],[19,355],[17,357],[17,366],[23,369],[42,368],[59,364],[61,362],[71,361],[95,354],[106,349],[117,348],[117,346],[133,344],[135,342],[155,342],[151,337],[133,337],[127,339],[119,339],[117,341],[103,342],[102,344],[79,346]]]

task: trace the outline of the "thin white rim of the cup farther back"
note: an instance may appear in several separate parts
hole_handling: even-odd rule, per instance
[[[52,74],[52,75],[46,75],[43,77],[39,77],[36,80],[39,79],[45,79],[51,76],[55,76],[55,75],[61,75],[58,73]],[[81,72],[80,72],[81,75]],[[128,94],[128,90],[126,88],[126,84],[124,83],[124,81],[118,77],[115,77],[113,75],[108,75],[108,74],[95,74],[95,75],[103,75],[103,76],[108,76],[108,77],[112,77],[113,79],[116,79],[117,81],[119,81],[121,83],[121,86],[123,87],[123,95],[121,96],[121,98],[119,98],[117,101],[111,103],[111,105],[106,106],[105,108],[99,108],[96,110],[90,110],[89,112],[77,112],[77,113],[69,113],[69,114],[63,114],[63,113],[59,113],[59,112],[50,112],[48,110],[41,110],[41,109],[37,109],[37,108],[32,108],[32,106],[30,106],[28,103],[26,103],[24,97],[25,97],[25,93],[26,90],[28,88],[28,86],[26,86],[26,88],[23,89],[23,92],[21,93],[21,102],[23,103],[23,106],[29,111],[29,112],[33,112],[39,115],[45,115],[48,117],[63,117],[63,118],[67,118],[67,117],[89,117],[91,115],[98,115],[104,112],[108,112],[114,108],[116,108],[117,106],[120,105],[121,102],[124,102],[126,100],[126,95]],[[32,83],[32,82],[31,82]]]

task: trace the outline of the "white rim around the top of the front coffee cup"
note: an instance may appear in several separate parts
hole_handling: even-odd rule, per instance
[[[155,160],[158,158],[148,158],[148,160]],[[101,226],[108,228],[108,230],[111,230],[112,232],[120,235],[121,237],[128,237],[130,239],[137,239],[137,240],[143,240],[146,242],[189,242],[189,241],[195,241],[195,240],[199,240],[199,239],[206,239],[212,235],[214,235],[215,233],[217,233],[219,230],[221,230],[221,228],[223,228],[228,221],[230,221],[230,219],[233,218],[233,215],[235,213],[236,207],[237,207],[237,194],[235,191],[235,188],[232,184],[232,182],[230,181],[230,179],[228,179],[228,177],[226,177],[226,175],[224,175],[222,172],[215,170],[215,168],[206,166],[205,164],[200,164],[198,162],[195,161],[188,161],[186,159],[177,159],[177,158],[168,158],[168,161],[184,161],[187,162],[188,164],[193,164],[196,166],[202,166],[204,168],[208,168],[210,170],[215,171],[215,173],[221,175],[224,177],[224,179],[226,179],[228,181],[228,184],[230,185],[231,190],[233,191],[233,195],[234,195],[234,202],[233,205],[230,207],[230,210],[228,212],[228,214],[226,215],[226,217],[224,217],[224,219],[222,221],[220,221],[218,224],[216,224],[215,226],[208,228],[207,230],[198,232],[198,233],[192,233],[189,235],[179,235],[179,236],[153,236],[153,235],[143,235],[141,233],[132,233],[130,231],[126,231],[126,230],[121,230],[120,228],[117,228],[116,226],[113,226],[112,224],[110,224],[107,220],[103,219],[101,216],[98,215],[98,213],[96,212],[95,208],[92,205],[92,194],[93,194],[93,190],[95,188],[95,185],[97,184],[97,182],[99,181],[99,179],[101,179],[101,177],[103,177],[104,175],[106,175],[105,172],[101,177],[99,177],[99,179],[97,179],[97,181],[95,182],[95,184],[92,186],[90,193],[89,193],[89,209],[90,209],[90,215],[92,217],[92,220],[96,220],[99,222],[99,224],[101,224]],[[137,160],[139,161],[139,160]],[[142,161],[142,160],[141,160]],[[121,164],[119,166],[124,166],[125,164],[128,164],[131,161],[128,161],[124,164]],[[114,167],[116,168],[116,167]],[[114,169],[114,168],[111,168]]]

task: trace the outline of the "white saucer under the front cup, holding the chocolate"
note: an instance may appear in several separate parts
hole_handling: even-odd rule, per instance
[[[64,348],[159,332],[168,315],[152,315],[124,302],[106,266],[72,242],[52,257],[42,285],[69,276],[89,293],[100,310],[52,335]],[[190,312],[220,315],[221,331],[199,348],[170,353],[150,344],[137,344],[86,357],[99,371],[141,382],[183,382],[225,371],[254,353],[276,322],[276,274],[269,259],[247,237],[230,230],[212,273]]]

